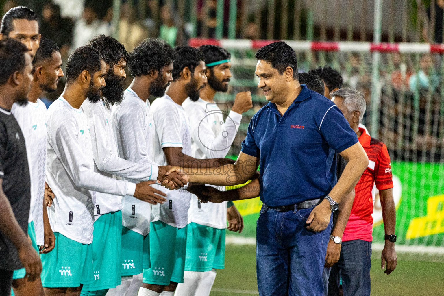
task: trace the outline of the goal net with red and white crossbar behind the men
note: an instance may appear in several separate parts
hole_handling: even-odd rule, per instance
[[[231,52],[230,90],[216,101],[231,107],[240,91],[251,91],[253,109],[244,114],[230,155],[236,157],[251,116],[268,103],[254,75],[258,47],[272,41],[191,39],[190,45],[217,44]],[[390,153],[396,204],[398,249],[444,254],[444,69],[443,47],[428,43],[372,44],[288,41],[298,71],[329,65],[340,71],[344,87],[361,91],[367,101],[363,124]],[[380,53],[372,83],[372,58]],[[371,104],[372,92],[377,104]],[[373,109],[374,110],[373,110]],[[376,120],[375,120],[376,118]],[[373,121],[372,121],[373,119]],[[377,126],[372,126],[375,122]],[[375,131],[376,134],[375,134]],[[381,202],[374,189],[373,243],[384,243]],[[237,201],[246,237],[254,237],[261,207],[257,199]]]

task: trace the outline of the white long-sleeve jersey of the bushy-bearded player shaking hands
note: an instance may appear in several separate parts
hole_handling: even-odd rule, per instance
[[[94,171],[118,180],[121,180],[120,177],[142,181],[151,180],[150,176],[153,177],[151,165],[146,166],[143,163],[130,162],[119,157],[112,124],[111,104],[107,104],[102,100],[98,103],[91,103],[86,100],[82,104],[82,109],[87,116],[91,133]],[[154,178],[157,178],[157,174]],[[96,193],[95,220],[100,215],[121,209],[122,196],[101,192]]]

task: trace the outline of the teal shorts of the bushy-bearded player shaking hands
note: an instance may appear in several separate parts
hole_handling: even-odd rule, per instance
[[[122,248],[122,211],[103,214],[94,222],[92,239],[91,284],[85,291],[115,288],[122,283],[120,251]]]

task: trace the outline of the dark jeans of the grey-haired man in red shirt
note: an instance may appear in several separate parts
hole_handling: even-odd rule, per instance
[[[339,295],[339,280],[342,278],[344,296],[370,296],[371,257],[371,241],[342,242],[339,261],[330,271],[328,295]]]

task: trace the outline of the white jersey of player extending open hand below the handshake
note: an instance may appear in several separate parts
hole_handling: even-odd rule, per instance
[[[92,242],[96,191],[134,194],[135,185],[94,172],[91,135],[82,108],[62,96],[48,108],[48,185],[56,195],[48,208],[52,231],[82,244]]]

